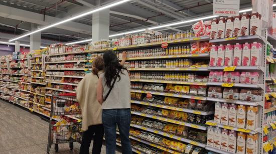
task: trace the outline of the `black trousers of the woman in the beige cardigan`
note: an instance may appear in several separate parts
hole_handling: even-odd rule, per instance
[[[101,153],[101,145],[103,140],[103,125],[90,125],[88,130],[83,132],[81,145],[80,145],[80,154],[88,154],[89,147],[91,144],[92,138],[93,141],[93,149],[92,154],[100,154]]]

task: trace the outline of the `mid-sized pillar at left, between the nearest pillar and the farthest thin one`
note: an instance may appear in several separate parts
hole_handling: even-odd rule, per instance
[[[37,28],[37,24],[31,23],[31,29],[34,30]],[[30,51],[35,49],[40,49],[41,44],[41,32],[36,32],[30,35]]]

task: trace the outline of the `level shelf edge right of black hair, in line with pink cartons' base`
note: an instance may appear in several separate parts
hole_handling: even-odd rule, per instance
[[[187,68],[127,68],[127,70],[190,70],[190,71],[208,71],[208,67],[187,67]]]

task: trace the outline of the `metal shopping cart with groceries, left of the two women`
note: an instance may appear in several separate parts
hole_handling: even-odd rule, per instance
[[[69,143],[72,150],[73,142],[80,142],[80,121],[72,120],[66,116],[72,114],[81,114],[75,93],[52,95],[47,153],[50,152],[52,144],[55,144],[57,152],[60,143]],[[60,116],[60,119],[58,121],[53,120],[56,119],[54,116]]]

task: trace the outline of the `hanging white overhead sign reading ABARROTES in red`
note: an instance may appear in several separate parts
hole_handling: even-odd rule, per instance
[[[213,15],[220,15],[220,16],[239,15],[239,0],[214,0]]]

